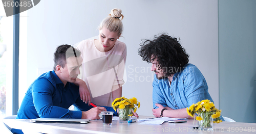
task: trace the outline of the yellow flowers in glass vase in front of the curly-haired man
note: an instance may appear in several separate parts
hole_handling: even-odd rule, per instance
[[[208,99],[190,105],[189,108],[187,108],[187,114],[191,117],[197,114],[196,120],[199,121],[199,127],[201,129],[212,128],[213,123],[222,122],[220,119],[221,110],[216,109],[214,103],[210,102]],[[213,119],[215,119],[215,121],[213,121]]]

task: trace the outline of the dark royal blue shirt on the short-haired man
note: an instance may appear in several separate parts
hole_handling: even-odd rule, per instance
[[[80,111],[70,111],[74,106]],[[107,111],[113,108],[104,106]],[[80,99],[79,88],[73,83],[64,84],[54,71],[39,76],[29,87],[20,105],[16,119],[34,118],[81,118],[81,111],[88,111],[89,106]],[[117,115],[116,112],[114,112]]]

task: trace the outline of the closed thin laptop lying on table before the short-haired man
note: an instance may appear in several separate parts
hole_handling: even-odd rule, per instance
[[[90,119],[67,119],[67,118],[36,118],[30,122],[36,123],[89,123]]]

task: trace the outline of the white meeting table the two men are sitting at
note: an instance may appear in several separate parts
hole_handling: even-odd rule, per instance
[[[139,119],[150,118],[150,116],[139,116]],[[112,125],[103,125],[102,120],[92,120],[87,124],[73,123],[33,123],[30,119],[5,119],[3,120],[11,128],[23,129],[26,133],[256,133],[256,123],[241,123],[241,122],[221,122],[214,123],[212,131],[203,131],[193,129],[197,126],[196,121],[189,119],[185,123],[168,123],[164,122],[161,125],[154,124],[139,124],[136,121],[133,123],[119,123],[118,120],[112,121]]]

